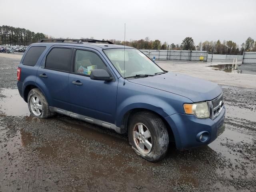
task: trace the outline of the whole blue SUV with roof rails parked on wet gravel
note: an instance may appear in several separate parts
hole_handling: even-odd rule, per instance
[[[18,90],[33,116],[55,113],[127,133],[146,160],[207,145],[224,132],[222,89],[160,68],[139,50],[100,40],[43,39],[18,66]]]

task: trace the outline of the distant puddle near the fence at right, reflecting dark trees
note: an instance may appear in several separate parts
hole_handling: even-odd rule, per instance
[[[252,71],[252,70],[242,70],[239,69],[241,65],[238,64],[237,65],[237,69],[235,69],[235,66],[232,67],[232,64],[219,64],[219,65],[209,65],[207,67],[214,67],[215,69],[213,70],[217,70],[217,71],[224,71],[226,73],[241,73],[241,74],[252,74],[252,75],[256,75],[256,71]]]

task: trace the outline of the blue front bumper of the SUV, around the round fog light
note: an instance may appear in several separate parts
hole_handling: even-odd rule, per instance
[[[217,138],[217,132],[224,124],[226,108],[223,107],[220,115],[214,120],[210,118],[199,119],[194,115],[176,113],[166,117],[174,134],[176,148],[185,150],[198,146],[208,145]],[[200,132],[208,132],[209,138],[200,142],[197,135]]]

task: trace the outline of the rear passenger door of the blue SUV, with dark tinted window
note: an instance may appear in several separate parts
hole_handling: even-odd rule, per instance
[[[70,111],[68,77],[72,46],[53,46],[38,68],[36,84],[42,89],[51,107]]]

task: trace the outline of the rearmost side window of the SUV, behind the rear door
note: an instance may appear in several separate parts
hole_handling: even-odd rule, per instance
[[[44,52],[46,47],[30,47],[23,60],[23,65],[35,66],[38,58]]]

